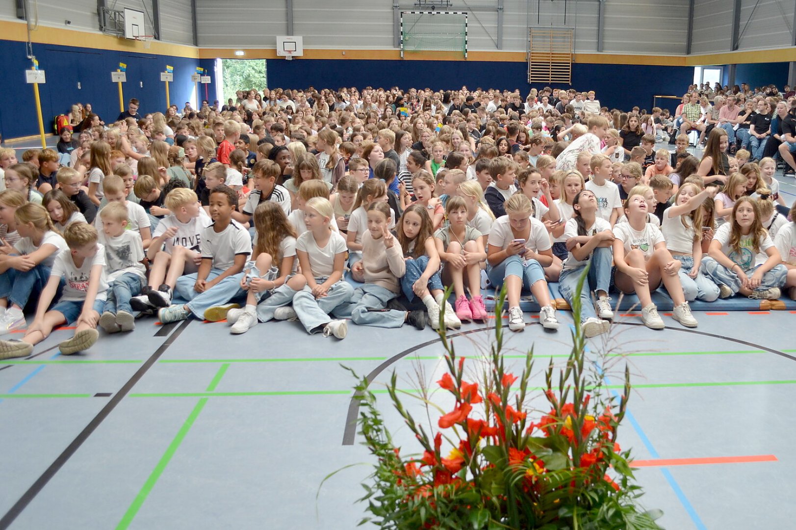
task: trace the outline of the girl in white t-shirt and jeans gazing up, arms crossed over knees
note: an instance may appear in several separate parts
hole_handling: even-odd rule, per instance
[[[580,327],[587,337],[593,337],[608,332],[611,328],[610,320],[614,318],[611,298],[608,297],[614,233],[611,231],[611,223],[598,217],[597,196],[593,192],[579,191],[572,206],[572,218],[567,221],[564,229],[568,256],[564,260],[558,285],[561,296],[564,296],[570,307],[575,298],[579,297]],[[583,289],[578,292],[578,282],[587,265],[588,277],[583,282]],[[591,300],[592,290],[595,292],[597,311]]]

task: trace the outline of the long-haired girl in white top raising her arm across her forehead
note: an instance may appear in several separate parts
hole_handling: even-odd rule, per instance
[[[719,287],[700,272],[702,231],[706,226],[701,206],[704,199],[715,195],[716,186],[700,190],[694,183],[685,183],[677,191],[674,204],[663,213],[661,233],[666,238],[666,248],[681,263],[678,274],[689,302],[712,302],[719,297]]]

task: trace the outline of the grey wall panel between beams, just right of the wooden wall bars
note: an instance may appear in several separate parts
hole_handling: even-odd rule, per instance
[[[684,54],[689,0],[607,0],[603,52]]]

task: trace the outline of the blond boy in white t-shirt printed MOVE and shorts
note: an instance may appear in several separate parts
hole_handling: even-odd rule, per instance
[[[165,206],[172,213],[155,227],[154,238],[146,251],[152,264],[149,285],[141,289],[141,296],[130,300],[136,311],[170,306],[178,278],[199,270],[201,232],[213,224],[200,206],[197,194],[188,188],[171,190],[166,195]]]

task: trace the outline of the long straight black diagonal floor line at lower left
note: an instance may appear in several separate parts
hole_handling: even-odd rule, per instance
[[[135,383],[139,382],[139,379],[146,374],[146,371],[150,369],[158,361],[161,355],[171,346],[174,344],[174,340],[177,340],[178,336],[185,331],[185,328],[191,323],[191,320],[185,320],[182,324],[180,324],[179,328],[177,328],[174,333],[172,333],[168,339],[166,339],[163,344],[158,347],[158,349],[150,355],[149,359],[146,359],[146,362],[142,364],[142,366],[132,375],[130,379],[127,380],[127,383],[124,383],[124,386],[119,389],[119,391],[107,402],[107,405],[103,406],[102,410],[92,419],[91,422],[88,422],[88,425],[84,427],[80,434],[76,436],[72,443],[70,443],[66,449],[58,457],[53,461],[52,464],[49,465],[47,469],[45,469],[44,473],[41,473],[41,476],[37,478],[33,485],[31,485],[28,490],[22,494],[19,498],[19,501],[14,503],[6,515],[0,519],[0,530],[5,530],[8,528],[14,520],[19,516],[19,514],[30,504],[30,501],[44,489],[45,485],[50,481],[51,478],[58,473],[58,470],[64,466],[64,464],[72,457],[74,453],[80,449],[80,446],[83,445],[89,436],[96,430],[97,427],[107,418],[108,414],[115,409],[119,402],[127,395],[128,392],[131,391],[132,387],[135,386]],[[43,353],[43,352],[42,352]]]

